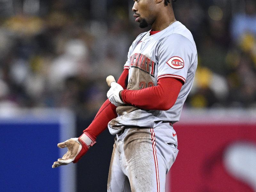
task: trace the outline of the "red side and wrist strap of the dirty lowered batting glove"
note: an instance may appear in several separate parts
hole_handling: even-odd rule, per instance
[[[84,154],[88,151],[88,149],[96,143],[96,141],[87,132],[84,132],[78,138],[78,141],[82,145],[82,148],[76,155],[76,158],[74,159],[73,163],[77,163],[82,158],[82,156],[84,156]]]

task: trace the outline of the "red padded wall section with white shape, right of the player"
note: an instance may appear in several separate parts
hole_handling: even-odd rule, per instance
[[[255,192],[256,110],[183,110],[166,191]]]

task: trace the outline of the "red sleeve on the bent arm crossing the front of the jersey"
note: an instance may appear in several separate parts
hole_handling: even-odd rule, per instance
[[[166,111],[176,102],[183,83],[176,78],[161,78],[157,86],[122,91],[122,100],[139,108]]]

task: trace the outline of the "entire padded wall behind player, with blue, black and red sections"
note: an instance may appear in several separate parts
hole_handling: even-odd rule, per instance
[[[256,191],[256,110],[184,109],[174,129],[179,154],[166,192]],[[106,130],[79,164],[52,169],[66,152],[57,143],[71,137],[77,137],[71,111],[1,110],[1,191],[106,191],[114,138]],[[84,169],[78,180],[76,166]]]

